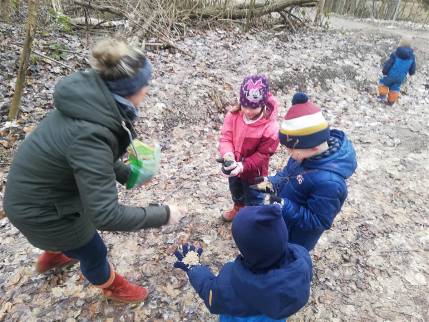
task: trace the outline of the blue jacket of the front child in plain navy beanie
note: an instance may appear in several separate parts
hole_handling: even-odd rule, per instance
[[[239,256],[225,264],[218,276],[207,266],[195,266],[188,271],[189,281],[209,311],[229,316],[227,321],[285,319],[308,302],[313,276],[308,251],[299,245],[288,247],[294,260],[267,273],[253,273]]]

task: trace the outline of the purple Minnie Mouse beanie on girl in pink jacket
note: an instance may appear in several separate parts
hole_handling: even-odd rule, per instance
[[[240,86],[240,104],[243,107],[263,107],[267,102],[270,85],[264,75],[252,75],[244,79]]]

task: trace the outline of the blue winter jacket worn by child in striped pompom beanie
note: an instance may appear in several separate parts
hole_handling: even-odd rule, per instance
[[[347,197],[345,179],[356,170],[356,153],[344,132],[331,130],[341,142],[334,154],[302,163],[289,159],[286,167],[269,177],[279,197],[284,198],[283,218],[289,242],[314,248],[329,229]]]

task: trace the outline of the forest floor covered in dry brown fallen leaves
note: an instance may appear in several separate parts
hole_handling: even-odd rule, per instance
[[[230,224],[220,220],[231,201],[215,158],[225,105],[236,98],[243,77],[255,72],[269,76],[281,103],[279,120],[294,92],[306,91],[331,127],[347,133],[358,156],[343,210],[312,252],[310,301],[288,321],[428,321],[428,32],[409,24],[338,19],[332,19],[332,29],[295,34],[190,31],[177,45],[195,58],[171,50],[148,52],[155,75],[136,127],[142,140],[160,142],[162,165],[143,188],[120,188],[120,199],[132,205],[176,203],[188,216],[177,226],[102,236],[116,270],[148,287],[149,299],[139,305],[106,301],[78,266],[36,275],[33,265],[41,250],[3,218],[0,321],[216,321],[186,275],[173,269],[170,254],[180,240],[201,241],[202,261],[215,272],[238,254]],[[35,57],[23,113],[17,124],[5,122],[22,38],[14,27],[0,24],[0,30],[4,183],[17,143],[52,108],[54,84],[70,70]],[[376,100],[377,79],[404,33],[417,37],[417,73],[390,107]],[[53,41],[70,51],[60,57],[64,64],[72,70],[86,66],[84,40],[50,34],[35,46],[52,54]],[[280,148],[271,171],[281,169],[287,158]]]

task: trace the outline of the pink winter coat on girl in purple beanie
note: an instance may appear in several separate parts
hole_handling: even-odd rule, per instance
[[[224,156],[233,152],[235,161],[243,163],[240,178],[254,183],[259,176],[268,175],[268,164],[279,145],[277,123],[278,102],[269,93],[267,101],[268,118],[261,118],[253,124],[246,124],[243,112],[228,112],[222,126],[219,152]]]

